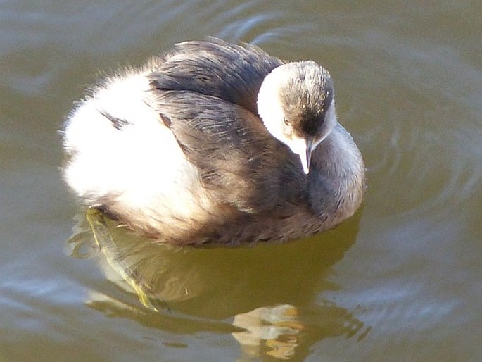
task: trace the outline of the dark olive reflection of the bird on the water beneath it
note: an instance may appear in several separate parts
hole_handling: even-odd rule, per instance
[[[244,356],[309,355],[326,337],[362,338],[355,311],[321,294],[338,286],[331,266],[355,242],[360,213],[335,230],[287,244],[194,248],[156,244],[96,214],[68,240],[74,258],[95,259],[110,281],[87,305],[106,316],[179,334],[231,333]]]

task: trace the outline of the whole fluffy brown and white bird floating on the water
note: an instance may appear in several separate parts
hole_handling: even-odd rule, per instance
[[[185,42],[108,78],[72,112],[64,144],[84,202],[161,242],[284,241],[362,200],[329,74],[250,45]]]

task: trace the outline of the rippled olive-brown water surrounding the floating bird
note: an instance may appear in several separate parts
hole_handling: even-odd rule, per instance
[[[480,1],[111,3],[0,2],[0,361],[482,361]],[[364,205],[284,245],[108,224],[99,249],[63,119],[99,70],[205,35],[331,71]]]

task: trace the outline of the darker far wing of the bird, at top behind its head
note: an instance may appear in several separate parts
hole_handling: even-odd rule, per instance
[[[262,81],[283,62],[257,46],[183,42],[154,59],[149,75],[158,90],[190,91],[215,96],[258,114],[256,101]]]

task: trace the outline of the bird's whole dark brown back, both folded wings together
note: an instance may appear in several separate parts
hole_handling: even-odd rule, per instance
[[[148,75],[152,106],[169,120],[203,185],[243,212],[296,202],[303,188],[296,156],[269,135],[256,106],[262,81],[281,64],[256,46],[211,38],[176,44]]]

